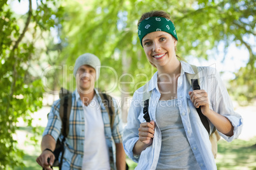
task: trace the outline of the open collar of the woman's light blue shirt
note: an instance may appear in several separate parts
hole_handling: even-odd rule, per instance
[[[180,76],[182,76],[184,73],[188,74],[195,74],[194,70],[192,69],[191,65],[187,62],[180,61],[181,63],[181,72]],[[145,84],[145,86],[148,86],[147,91],[152,91],[154,88],[159,91],[159,88],[157,86],[157,72],[153,75],[152,79],[148,81],[148,83]]]

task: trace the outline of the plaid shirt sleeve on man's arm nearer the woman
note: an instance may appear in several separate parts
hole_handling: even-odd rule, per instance
[[[112,136],[115,143],[122,143],[123,136],[123,124],[122,124],[122,112],[117,105],[117,101],[113,98],[113,104],[115,107],[115,121],[112,129]]]

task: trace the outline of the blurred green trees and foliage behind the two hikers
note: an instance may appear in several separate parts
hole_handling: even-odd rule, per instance
[[[39,150],[43,128],[33,126],[33,113],[48,96],[57,100],[60,87],[75,89],[73,65],[83,53],[99,56],[103,68],[96,86],[121,99],[125,122],[125,103],[155,72],[137,36],[138,19],[146,11],[171,15],[177,55],[194,64],[224,63],[218,70],[224,75],[225,68],[232,69],[225,76],[232,100],[255,101],[255,0],[1,0],[0,7],[0,169],[29,166],[24,160],[39,155],[29,157],[18,147],[18,123],[29,128],[29,145]],[[228,58],[238,49],[243,53]]]

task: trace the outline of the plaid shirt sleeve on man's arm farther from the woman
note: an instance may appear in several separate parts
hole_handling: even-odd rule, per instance
[[[60,135],[60,129],[62,126],[59,116],[59,107],[60,100],[57,100],[53,103],[50,113],[48,114],[48,123],[45,131],[43,132],[43,136],[50,134],[55,141],[57,141],[57,138]]]

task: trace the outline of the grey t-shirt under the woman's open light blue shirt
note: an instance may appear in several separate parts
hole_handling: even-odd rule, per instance
[[[155,119],[162,133],[157,169],[201,169],[188,143],[183,127],[179,100],[159,100]]]

